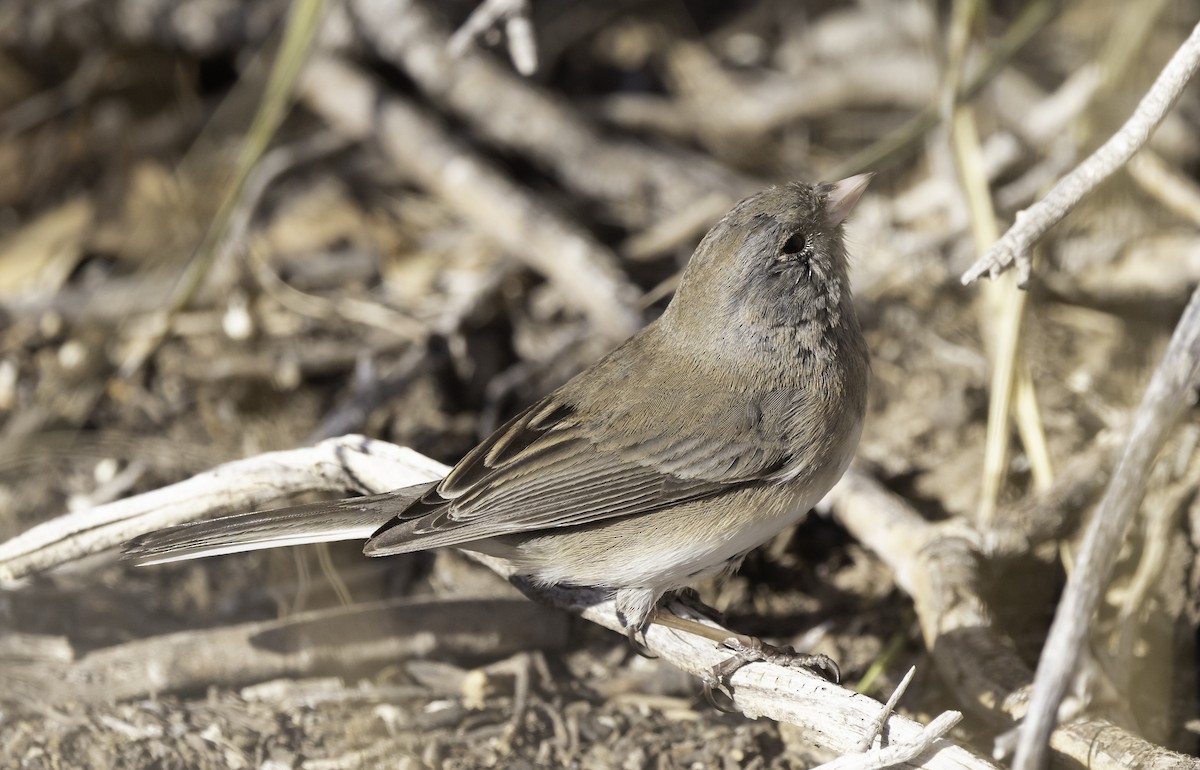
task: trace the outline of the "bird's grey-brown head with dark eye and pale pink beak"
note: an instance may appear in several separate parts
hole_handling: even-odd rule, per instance
[[[871,176],[791,182],[739,203],[696,247],[662,323],[726,342],[799,337],[817,354],[829,330],[857,330],[842,222]]]

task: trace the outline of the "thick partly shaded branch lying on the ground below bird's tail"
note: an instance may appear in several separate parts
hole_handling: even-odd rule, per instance
[[[44,709],[239,687],[408,658],[500,658],[562,649],[566,631],[564,615],[520,597],[390,600],[134,639],[58,664],[6,666],[10,684],[0,699]]]

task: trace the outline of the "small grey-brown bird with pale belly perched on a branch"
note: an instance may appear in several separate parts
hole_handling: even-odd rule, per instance
[[[440,482],[232,516],[132,541],[140,564],[366,537],[442,546],[539,584],[612,591],[630,632],[664,594],[736,569],[846,470],[869,362],[842,221],[870,175],[748,198],[661,318],[533,404]]]

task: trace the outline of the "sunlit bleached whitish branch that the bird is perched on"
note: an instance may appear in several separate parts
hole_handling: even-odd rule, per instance
[[[275,469],[274,481],[270,469]],[[412,450],[385,441],[349,435],[312,447],[272,452],[221,465],[169,487],[113,503],[92,511],[47,522],[0,543],[0,576],[14,578],[71,564],[84,555],[112,551],[136,534],[174,523],[196,521],[210,511],[251,509],[275,497],[317,488],[376,493],[427,481],[449,469]],[[95,519],[104,525],[85,525]],[[502,575],[502,565],[481,559]],[[623,633],[612,601],[580,589],[530,589],[539,601],[571,608],[583,618]],[[660,625],[646,633],[646,646],[662,661],[692,675],[708,674],[728,652],[713,642]],[[836,754],[856,752],[874,734],[872,721],[882,704],[839,687],[804,669],[756,662],[730,679],[733,704],[751,717],[767,716],[800,729],[809,745]],[[898,744],[918,741],[924,728],[902,716],[887,721]],[[900,766],[932,769],[992,768],[986,759],[944,739],[935,740],[917,760]]]

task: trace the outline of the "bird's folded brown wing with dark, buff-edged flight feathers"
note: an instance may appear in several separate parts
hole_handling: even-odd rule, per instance
[[[790,447],[763,431],[758,402],[749,397],[614,401],[588,415],[562,391],[534,404],[382,527],[365,552],[404,553],[648,513],[761,480],[791,459]]]

